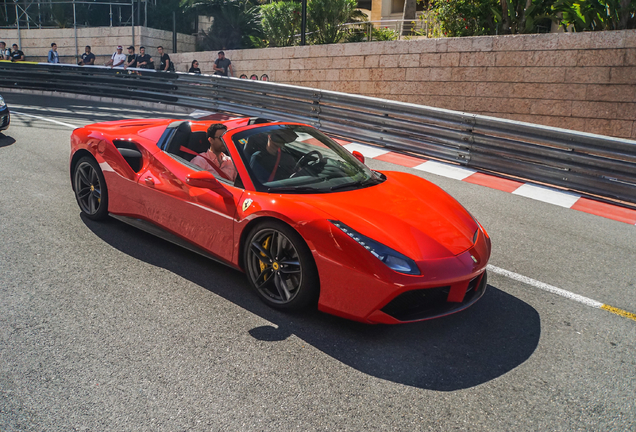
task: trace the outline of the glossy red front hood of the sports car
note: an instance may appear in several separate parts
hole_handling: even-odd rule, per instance
[[[414,260],[456,256],[473,246],[478,225],[453,197],[411,174],[384,174],[381,184],[309,195],[306,202]]]

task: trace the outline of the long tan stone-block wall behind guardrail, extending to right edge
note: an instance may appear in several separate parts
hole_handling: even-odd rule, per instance
[[[235,76],[636,139],[636,30],[226,51]],[[172,56],[212,71],[213,52]]]

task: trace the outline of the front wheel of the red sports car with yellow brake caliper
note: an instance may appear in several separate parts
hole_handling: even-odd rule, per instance
[[[320,292],[318,270],[300,234],[268,220],[256,225],[243,248],[245,273],[267,305],[296,311],[315,305]]]

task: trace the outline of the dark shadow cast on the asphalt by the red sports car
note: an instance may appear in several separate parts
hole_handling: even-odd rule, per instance
[[[463,312],[413,324],[366,325],[318,311],[282,313],[262,303],[241,272],[114,219],[82,219],[115,249],[274,324],[251,329],[255,339],[275,342],[295,335],[360,372],[395,383],[438,391],[474,387],[522,364],[539,343],[538,312],[492,285]]]

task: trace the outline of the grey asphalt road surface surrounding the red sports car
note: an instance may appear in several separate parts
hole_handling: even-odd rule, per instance
[[[283,314],[244,275],[80,216],[69,125],[174,117],[4,94],[0,431],[636,430],[636,321],[491,274],[402,326]],[[491,264],[636,312],[636,227],[433,174]]]

